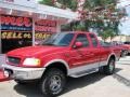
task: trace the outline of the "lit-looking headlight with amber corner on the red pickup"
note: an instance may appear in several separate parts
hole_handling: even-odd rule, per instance
[[[41,61],[40,59],[38,58],[26,58],[23,63],[24,66],[34,66],[34,67],[37,67],[37,66],[40,66]]]

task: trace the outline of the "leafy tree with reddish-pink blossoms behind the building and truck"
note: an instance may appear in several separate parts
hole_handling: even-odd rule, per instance
[[[72,11],[77,11],[77,0],[57,0],[62,4],[61,8],[68,8]],[[40,3],[53,5],[52,0],[42,0]],[[116,9],[116,0],[86,0],[83,10],[80,12],[80,20],[72,22],[62,26],[64,30],[89,30],[96,29],[100,33],[109,32],[119,34],[119,19],[125,15],[123,10]],[[110,31],[109,31],[110,30]]]

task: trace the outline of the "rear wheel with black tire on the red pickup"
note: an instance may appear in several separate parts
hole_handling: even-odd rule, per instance
[[[115,72],[115,59],[110,58],[107,66],[103,67],[103,72],[107,75],[113,74]]]

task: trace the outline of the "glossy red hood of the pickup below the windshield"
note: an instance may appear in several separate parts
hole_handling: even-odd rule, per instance
[[[63,46],[28,46],[16,48],[8,53],[9,56],[26,56],[26,57],[37,57],[39,55],[48,55],[51,53],[56,53],[65,51],[66,47]]]

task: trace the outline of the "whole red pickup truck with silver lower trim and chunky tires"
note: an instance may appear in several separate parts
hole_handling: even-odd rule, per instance
[[[60,95],[67,77],[79,78],[102,71],[113,74],[120,50],[100,43],[92,32],[60,32],[40,45],[6,54],[4,74],[18,84],[38,81],[43,95]]]

